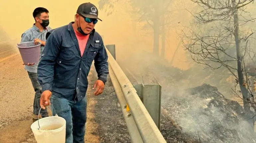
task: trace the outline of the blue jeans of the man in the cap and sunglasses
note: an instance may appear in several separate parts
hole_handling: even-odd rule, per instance
[[[82,100],[67,100],[54,92],[51,97],[52,113],[66,120],[66,143],[84,143],[86,122],[86,97]],[[54,111],[55,109],[55,111]]]

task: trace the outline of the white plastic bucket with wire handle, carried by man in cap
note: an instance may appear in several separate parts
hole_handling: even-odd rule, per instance
[[[66,120],[62,117],[41,118],[31,125],[31,129],[38,143],[65,143]]]

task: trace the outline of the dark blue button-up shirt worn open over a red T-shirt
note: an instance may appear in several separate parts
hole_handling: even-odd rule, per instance
[[[68,100],[77,97],[80,101],[87,91],[93,60],[98,79],[106,82],[108,56],[101,36],[93,30],[81,57],[72,23],[51,31],[37,72],[43,91],[50,90]]]

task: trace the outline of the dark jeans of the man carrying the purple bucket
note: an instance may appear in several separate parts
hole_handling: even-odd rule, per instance
[[[33,104],[33,113],[35,115],[38,115],[39,110],[40,110],[40,97],[41,97],[41,93],[42,93],[42,87],[39,84],[38,80],[37,80],[37,73],[33,73],[33,72],[29,72],[29,78],[31,80],[31,83],[34,87],[35,90],[35,97],[34,97],[34,104]],[[47,109],[41,109],[40,114],[42,115],[42,117],[47,117],[48,116],[48,112]]]

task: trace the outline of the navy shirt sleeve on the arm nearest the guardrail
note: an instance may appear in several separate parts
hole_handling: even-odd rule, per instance
[[[106,83],[108,72],[108,55],[104,44],[101,45],[97,55],[94,58],[94,66],[98,74],[98,79]]]

